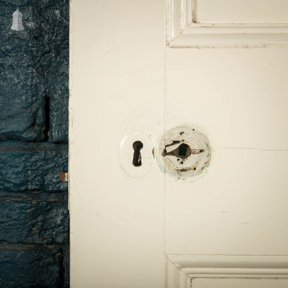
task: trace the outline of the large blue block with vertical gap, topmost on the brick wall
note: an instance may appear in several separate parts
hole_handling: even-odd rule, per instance
[[[69,1],[0,4],[0,140],[67,142],[65,100],[54,101],[54,110],[64,109],[57,115],[61,125],[50,130],[49,107],[44,108],[49,98],[69,96]],[[10,29],[16,4],[23,14],[22,31]]]

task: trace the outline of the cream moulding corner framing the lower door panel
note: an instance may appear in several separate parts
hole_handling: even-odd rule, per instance
[[[167,288],[191,288],[193,278],[288,279],[288,255],[166,255]]]

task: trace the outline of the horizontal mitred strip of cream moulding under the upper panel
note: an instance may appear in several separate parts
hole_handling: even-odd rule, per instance
[[[287,48],[288,24],[192,23],[168,43],[171,48]]]

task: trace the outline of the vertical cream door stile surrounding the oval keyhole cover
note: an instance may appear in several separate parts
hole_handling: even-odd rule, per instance
[[[119,155],[128,133],[164,131],[165,3],[70,14],[71,287],[163,287],[164,174],[130,177]]]

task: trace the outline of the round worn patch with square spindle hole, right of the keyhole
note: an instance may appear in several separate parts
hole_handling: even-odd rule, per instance
[[[178,179],[199,175],[210,159],[209,141],[196,127],[173,128],[165,133],[159,144],[157,160],[160,168]]]

